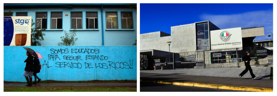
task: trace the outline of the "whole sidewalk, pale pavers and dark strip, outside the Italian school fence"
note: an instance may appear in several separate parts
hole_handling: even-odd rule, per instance
[[[140,80],[141,82],[155,82],[162,84],[176,83],[178,85],[201,85],[202,87],[207,86],[209,88],[211,88],[211,86],[217,86],[215,88],[232,86],[229,90],[244,90],[250,88],[265,90],[263,88],[266,88],[273,91],[273,80],[269,79],[270,67],[252,67],[256,77],[259,77],[258,80],[252,80],[249,72],[243,76],[243,79],[240,79],[238,74],[244,69],[245,68],[141,70]]]

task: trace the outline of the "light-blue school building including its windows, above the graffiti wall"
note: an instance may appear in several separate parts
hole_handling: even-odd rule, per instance
[[[136,4],[125,3],[4,3],[10,16],[31,16],[46,30],[42,46],[57,46],[76,28],[79,46],[131,46],[136,40]]]

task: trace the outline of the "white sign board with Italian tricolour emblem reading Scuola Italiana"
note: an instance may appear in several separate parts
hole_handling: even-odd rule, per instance
[[[242,47],[242,28],[212,30],[211,49],[230,49]]]

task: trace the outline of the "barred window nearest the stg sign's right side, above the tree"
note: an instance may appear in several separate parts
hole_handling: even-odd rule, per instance
[[[36,12],[35,19],[36,28],[47,28],[47,12]]]

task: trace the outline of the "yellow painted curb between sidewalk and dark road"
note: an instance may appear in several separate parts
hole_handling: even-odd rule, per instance
[[[205,84],[205,83],[194,83],[194,82],[175,82],[175,81],[170,82],[170,81],[157,81],[157,80],[140,80],[140,82],[151,82],[151,83],[160,83],[160,84],[205,87],[205,88],[216,88],[216,89],[228,89],[228,90],[239,90],[239,91],[273,92],[273,89],[271,89],[271,88]]]

